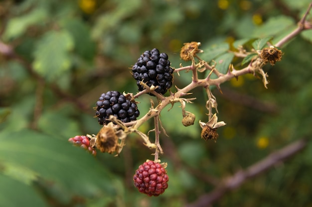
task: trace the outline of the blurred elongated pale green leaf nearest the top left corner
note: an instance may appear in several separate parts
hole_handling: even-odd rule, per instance
[[[47,18],[47,11],[43,8],[33,9],[24,15],[10,18],[4,30],[4,40],[17,38],[24,34],[26,29],[34,24],[40,24]]]

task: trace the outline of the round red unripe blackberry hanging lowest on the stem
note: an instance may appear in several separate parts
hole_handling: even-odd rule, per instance
[[[148,196],[159,196],[168,188],[168,175],[166,170],[154,161],[144,162],[133,176],[136,188]]]

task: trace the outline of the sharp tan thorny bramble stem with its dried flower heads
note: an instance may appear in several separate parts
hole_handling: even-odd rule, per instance
[[[179,75],[179,72],[185,71],[192,73],[192,82],[186,85],[184,88],[178,88],[175,86],[176,91],[172,92],[170,91],[170,94],[168,96],[163,96],[155,91],[157,86],[148,86],[144,82],[140,82],[140,84],[145,88],[143,91],[138,92],[137,94],[125,94],[127,96],[131,96],[133,100],[138,98],[139,96],[150,93],[156,96],[157,98],[157,104],[155,105],[154,101],[151,100],[151,108],[147,114],[145,114],[141,119],[129,123],[123,123],[116,119],[115,117],[111,116],[110,119],[114,125],[111,125],[111,127],[115,126],[115,131],[117,135],[117,140],[120,140],[118,143],[116,143],[116,152],[117,155],[122,151],[122,148],[125,143],[125,138],[127,135],[131,133],[137,133],[142,139],[144,144],[149,147],[150,149],[154,149],[155,153],[153,154],[155,156],[155,162],[160,162],[159,160],[159,153],[162,154],[162,148],[159,143],[159,134],[161,131],[166,135],[164,128],[161,126],[161,122],[159,119],[160,112],[164,109],[165,106],[168,104],[171,104],[172,107],[174,104],[179,103],[180,107],[182,109],[182,124],[184,126],[190,126],[194,124],[195,121],[195,115],[191,112],[185,111],[185,105],[186,103],[192,103],[193,100],[196,98],[182,98],[185,95],[191,95],[190,92],[192,89],[196,87],[203,87],[207,94],[207,101],[206,101],[206,109],[207,109],[207,116],[208,121],[201,122],[199,121],[199,125],[202,128],[201,132],[201,138],[208,140],[216,140],[218,138],[218,134],[216,130],[219,127],[222,127],[226,125],[223,121],[218,122],[218,109],[217,109],[217,100],[215,96],[212,94],[210,90],[210,86],[216,86],[217,89],[222,93],[221,90],[221,83],[224,83],[231,78],[238,78],[238,76],[251,73],[253,75],[260,75],[262,77],[262,81],[264,84],[264,87],[267,88],[267,84],[269,81],[267,80],[268,74],[263,70],[263,67],[270,63],[272,66],[275,65],[276,62],[281,61],[282,59],[282,51],[278,47],[282,47],[286,42],[291,40],[293,37],[298,35],[301,31],[312,29],[311,22],[308,22],[306,20],[307,15],[309,14],[311,10],[312,4],[310,4],[306,14],[303,16],[303,18],[298,23],[298,27],[291,32],[290,34],[286,35],[281,41],[279,41],[275,46],[271,45],[270,42],[268,42],[268,46],[264,48],[263,50],[258,50],[257,55],[251,59],[249,65],[243,69],[235,69],[233,65],[231,64],[229,66],[228,71],[223,74],[218,71],[218,65],[216,62],[211,61],[211,63],[208,63],[204,60],[201,60],[197,54],[204,52],[203,50],[199,49],[200,43],[199,42],[190,42],[190,43],[184,43],[183,47],[180,51],[180,58],[183,61],[191,61],[190,66],[182,67],[180,64],[180,68],[174,69],[174,72],[176,72],[177,75]],[[234,55],[238,58],[245,58],[248,54],[246,50],[243,47],[239,48],[238,52],[234,52]],[[209,71],[208,75],[204,79],[198,79],[198,72],[205,72]],[[211,78],[211,74],[214,73],[217,78]],[[171,107],[171,108],[172,108]],[[171,109],[170,108],[170,109]],[[169,109],[169,110],[170,110]],[[138,128],[148,121],[149,119],[154,118],[155,128],[151,130],[150,132],[155,132],[155,142],[152,143],[150,141],[150,132],[146,135],[138,130]],[[116,127],[117,126],[117,127]],[[105,128],[105,126],[104,126]],[[161,129],[161,131],[159,130]],[[121,133],[122,131],[122,133]],[[101,136],[101,131],[97,136],[94,136],[95,139],[99,138]]]

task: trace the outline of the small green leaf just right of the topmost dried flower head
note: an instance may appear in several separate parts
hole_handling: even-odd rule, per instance
[[[210,62],[219,55],[226,53],[229,49],[230,46],[228,43],[220,43],[217,45],[210,46],[208,48],[203,47],[202,50],[204,51],[204,53],[200,54],[200,57],[204,61]]]

